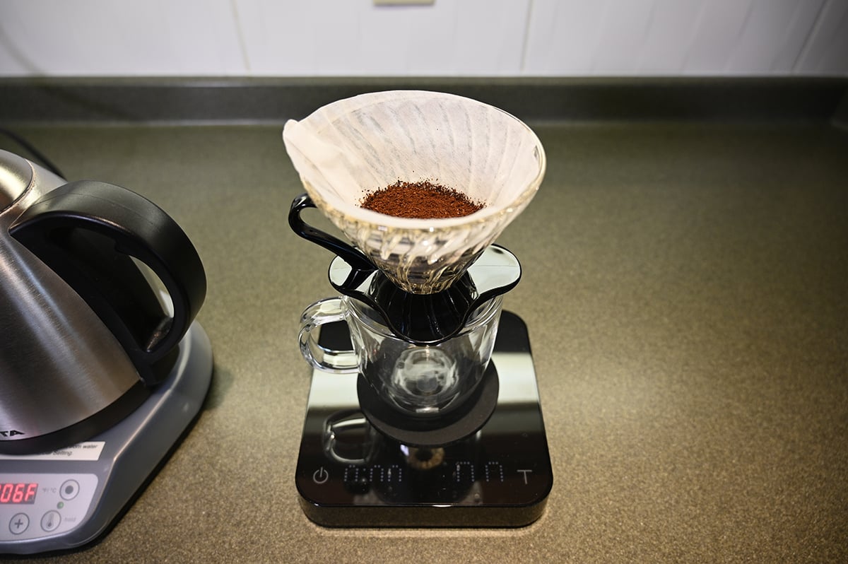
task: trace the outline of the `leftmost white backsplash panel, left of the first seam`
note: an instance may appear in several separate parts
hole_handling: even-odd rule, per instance
[[[0,75],[240,75],[230,0],[0,0]]]

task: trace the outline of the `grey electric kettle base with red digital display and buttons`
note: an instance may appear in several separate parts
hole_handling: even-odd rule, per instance
[[[0,455],[0,554],[72,549],[120,517],[203,405],[212,347],[195,321],[165,382],[126,419],[42,455]]]

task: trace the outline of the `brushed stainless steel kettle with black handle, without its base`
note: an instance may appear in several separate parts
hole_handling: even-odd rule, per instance
[[[170,373],[205,294],[196,249],[162,209],[0,150],[0,453],[55,450],[129,415]]]

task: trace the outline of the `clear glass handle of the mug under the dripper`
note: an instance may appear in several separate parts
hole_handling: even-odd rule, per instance
[[[344,305],[339,298],[321,299],[307,307],[300,316],[300,332],[298,333],[300,354],[304,355],[304,359],[318,370],[336,374],[360,371],[359,362],[353,350],[323,347],[318,343],[314,333],[316,327],[334,321],[344,321],[344,317]]]

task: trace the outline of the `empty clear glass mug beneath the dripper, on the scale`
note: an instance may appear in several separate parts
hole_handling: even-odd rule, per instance
[[[483,303],[452,338],[419,345],[398,338],[377,311],[342,296],[311,304],[300,317],[300,352],[310,365],[359,372],[377,395],[409,416],[440,416],[461,405],[483,379],[494,349],[503,296]],[[313,332],[346,321],[353,350],[321,347]]]

